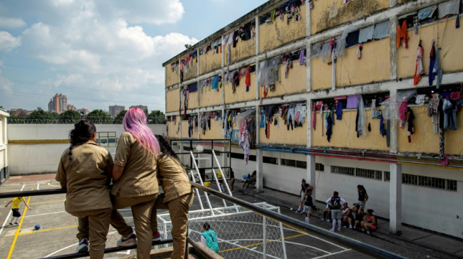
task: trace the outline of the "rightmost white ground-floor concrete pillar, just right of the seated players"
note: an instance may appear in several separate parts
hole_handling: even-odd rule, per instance
[[[402,165],[390,164],[389,232],[402,234]]]

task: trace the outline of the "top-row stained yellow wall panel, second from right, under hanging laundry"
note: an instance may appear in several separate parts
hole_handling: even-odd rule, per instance
[[[259,51],[266,52],[306,36],[306,6],[301,6],[301,19],[292,17],[287,23],[288,15],[277,17],[270,24],[259,26]]]

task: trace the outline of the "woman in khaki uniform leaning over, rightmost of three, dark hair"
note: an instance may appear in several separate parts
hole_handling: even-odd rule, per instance
[[[162,136],[156,135],[161,147],[161,155],[157,157],[158,178],[164,194],[159,195],[151,213],[153,237],[160,237],[157,231],[156,209],[169,209],[172,221],[172,239],[174,252],[172,259],[183,259],[187,240],[188,210],[193,203],[193,188],[180,159]]]

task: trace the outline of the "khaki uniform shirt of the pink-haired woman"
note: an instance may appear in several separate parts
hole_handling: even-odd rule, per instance
[[[132,133],[120,135],[114,163],[124,170],[119,180],[114,182],[111,194],[133,198],[158,193],[156,157]]]

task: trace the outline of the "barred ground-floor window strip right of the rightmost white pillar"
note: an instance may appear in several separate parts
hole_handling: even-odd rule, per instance
[[[457,181],[422,175],[402,174],[402,183],[439,190],[457,191]]]

